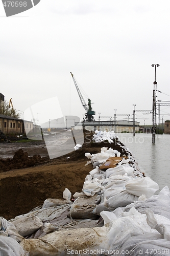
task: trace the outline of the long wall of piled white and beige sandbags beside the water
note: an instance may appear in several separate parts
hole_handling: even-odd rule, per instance
[[[113,138],[113,132],[96,131],[93,139],[113,143]],[[111,147],[85,154],[93,169],[82,191],[73,195],[73,203],[66,188],[63,200],[46,199],[28,214],[10,221],[1,218],[0,252],[10,256],[170,254],[169,189],[165,186],[154,195],[158,184],[144,177],[125,145],[119,146],[128,157],[113,168],[102,169],[110,157],[120,157]],[[11,239],[17,243],[15,250]]]

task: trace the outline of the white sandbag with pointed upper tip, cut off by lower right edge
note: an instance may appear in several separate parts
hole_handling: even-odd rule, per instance
[[[146,210],[145,214],[147,215],[148,225],[163,234],[164,239],[170,241],[170,220],[163,216],[155,215],[150,209]]]

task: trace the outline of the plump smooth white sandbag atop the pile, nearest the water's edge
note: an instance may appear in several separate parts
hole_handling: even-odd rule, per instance
[[[126,183],[126,191],[138,197],[145,195],[147,198],[150,198],[158,189],[159,185],[151,180],[150,177],[135,178]]]

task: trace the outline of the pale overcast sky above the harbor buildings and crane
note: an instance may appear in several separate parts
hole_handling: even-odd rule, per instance
[[[151,110],[153,63],[160,65],[157,99],[170,101],[169,12],[169,0],[41,0],[6,17],[0,3],[0,92],[23,112],[58,97],[63,115],[82,119],[72,72],[93,103],[95,120],[98,113],[113,117],[115,109],[133,118],[133,104]],[[136,114],[141,125],[144,118],[152,123],[151,114]],[[170,107],[162,106],[161,120],[168,114]]]

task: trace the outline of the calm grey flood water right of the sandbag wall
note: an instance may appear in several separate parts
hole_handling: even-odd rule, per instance
[[[132,154],[140,170],[158,183],[159,188],[170,189],[170,134],[156,135],[155,144],[152,134],[116,134]]]

